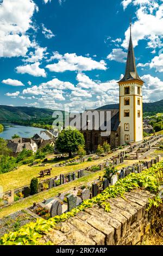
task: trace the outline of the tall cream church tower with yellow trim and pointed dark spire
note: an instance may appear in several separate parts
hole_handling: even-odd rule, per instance
[[[126,72],[118,84],[120,87],[121,144],[140,142],[143,139],[143,81],[136,70],[131,25]]]

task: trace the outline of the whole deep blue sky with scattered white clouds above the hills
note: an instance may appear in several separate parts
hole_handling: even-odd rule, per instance
[[[0,0],[0,103],[80,111],[118,102],[129,21],[143,101],[163,99],[162,0]]]

